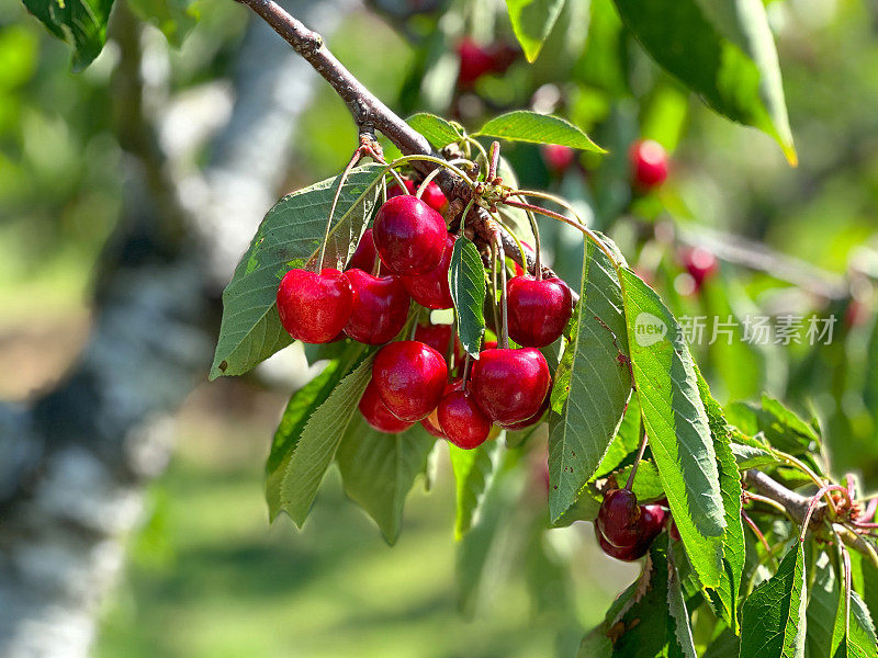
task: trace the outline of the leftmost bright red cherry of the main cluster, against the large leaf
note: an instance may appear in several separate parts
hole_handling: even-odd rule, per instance
[[[290,270],[278,286],[281,325],[296,340],[331,342],[353,309],[353,290],[338,270]]]

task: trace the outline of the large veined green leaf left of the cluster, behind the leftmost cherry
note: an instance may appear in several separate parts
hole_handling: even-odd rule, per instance
[[[326,246],[327,266],[344,266],[378,201],[381,164],[350,172],[341,188]],[[271,208],[223,292],[223,321],[211,379],[240,375],[291,342],[278,317],[278,285],[320,249],[339,177],[288,194]]]

